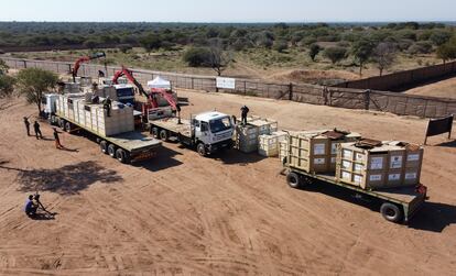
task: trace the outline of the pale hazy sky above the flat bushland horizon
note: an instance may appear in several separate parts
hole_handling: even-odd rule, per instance
[[[456,21],[456,0],[0,0],[0,21]]]

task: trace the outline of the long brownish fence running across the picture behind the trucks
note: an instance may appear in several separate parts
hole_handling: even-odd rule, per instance
[[[11,68],[39,67],[59,74],[67,74],[72,64],[62,62],[30,60],[6,58]],[[82,76],[97,77],[98,70],[106,70],[112,76],[118,67],[101,65],[82,65]],[[138,81],[145,84],[156,76],[169,79],[173,87],[215,91],[214,76],[196,76],[175,73],[163,73],[143,69],[133,69]],[[222,92],[256,96],[262,98],[292,100],[304,103],[330,106],[348,109],[366,109],[391,112],[399,115],[417,115],[423,118],[438,118],[456,113],[456,100],[434,97],[402,95],[395,92],[370,91],[338,87],[323,87],[305,84],[275,84],[261,80],[236,79],[236,89],[220,90]]]

